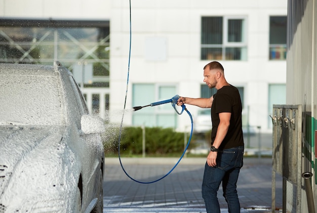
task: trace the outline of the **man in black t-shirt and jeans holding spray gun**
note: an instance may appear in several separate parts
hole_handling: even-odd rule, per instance
[[[217,191],[222,182],[223,196],[231,213],[240,212],[236,182],[243,165],[244,141],[242,104],[238,90],[224,77],[224,69],[213,61],[204,67],[204,82],[217,93],[210,98],[180,97],[177,105],[211,108],[211,149],[207,156],[202,195],[207,213],[220,213]]]

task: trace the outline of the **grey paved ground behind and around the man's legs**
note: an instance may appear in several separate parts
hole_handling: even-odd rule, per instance
[[[122,158],[126,173],[141,182],[165,176],[177,158]],[[103,212],[206,212],[201,195],[205,158],[183,158],[164,179],[141,184],[123,171],[118,158],[105,158]],[[237,192],[241,212],[271,212],[271,158],[244,158]],[[282,177],[275,178],[276,212],[282,212]],[[219,189],[221,212],[228,212]]]

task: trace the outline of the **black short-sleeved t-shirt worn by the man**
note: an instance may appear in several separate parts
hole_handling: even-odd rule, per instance
[[[227,135],[223,139],[219,149],[229,149],[233,147],[243,146],[242,132],[242,103],[239,91],[233,86],[224,86],[214,95],[214,100],[211,106],[211,144],[213,144],[218,125],[220,122],[219,113],[230,112],[230,126]]]

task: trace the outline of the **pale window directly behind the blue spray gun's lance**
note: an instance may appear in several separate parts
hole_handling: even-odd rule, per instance
[[[133,106],[145,106],[171,99],[176,95],[176,87],[168,84],[134,83],[132,93]],[[145,107],[133,113],[132,124],[176,128],[177,115],[171,104]]]

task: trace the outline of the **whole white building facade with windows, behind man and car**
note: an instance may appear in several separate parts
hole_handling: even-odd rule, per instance
[[[286,0],[137,0],[131,22],[129,3],[0,0],[0,60],[57,59],[73,72],[91,110],[110,122],[121,122],[126,104],[125,125],[179,131],[190,120],[168,104],[130,109],[176,94],[210,97],[215,91],[206,88],[203,67],[217,60],[241,93],[244,125],[271,131],[272,104],[286,101]],[[198,108],[187,109],[195,118]]]

